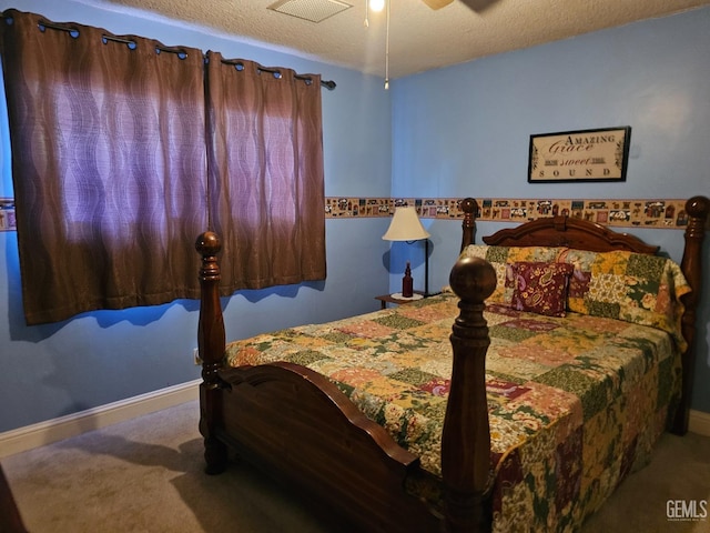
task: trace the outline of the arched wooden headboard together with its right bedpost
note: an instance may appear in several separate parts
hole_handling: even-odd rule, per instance
[[[682,355],[682,396],[672,428],[672,431],[678,434],[684,434],[688,431],[692,375],[696,365],[693,341],[698,303],[702,289],[702,242],[710,213],[710,200],[706,197],[693,197],[686,202],[686,212],[688,213],[688,225],[684,231],[686,245],[680,268],[692,288],[692,292],[682,296],[686,306],[682,318],[682,334],[688,342],[688,350]],[[493,235],[484,237],[483,241],[488,245],[498,247],[567,247],[595,252],[627,250],[651,255],[659,252],[659,247],[647,244],[637,237],[617,233],[600,224],[568,217],[537,219],[517,228],[504,229]]]

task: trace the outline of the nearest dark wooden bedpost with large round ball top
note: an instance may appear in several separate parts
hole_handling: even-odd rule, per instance
[[[460,298],[450,336],[452,383],[442,434],[446,532],[490,531],[490,428],[486,400],[486,351],[490,344],[484,300],[496,288],[496,271],[479,258],[459,259],[449,276]]]

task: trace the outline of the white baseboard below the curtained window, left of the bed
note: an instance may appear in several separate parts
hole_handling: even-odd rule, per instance
[[[202,380],[194,380],[59,419],[6,431],[0,433],[0,459],[197,400],[201,382]]]

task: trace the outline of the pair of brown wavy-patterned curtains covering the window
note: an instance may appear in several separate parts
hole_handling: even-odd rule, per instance
[[[325,279],[320,76],[17,10],[1,26],[28,324],[199,298],[207,228],[223,295]]]

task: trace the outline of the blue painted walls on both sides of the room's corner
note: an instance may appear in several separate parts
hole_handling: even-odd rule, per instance
[[[326,195],[710,194],[710,69],[706,59],[710,57],[710,9],[394,80],[385,92],[381,79],[240,43],[207,30],[70,0],[59,3],[23,0],[19,9],[113,33],[142,34],[168,46],[219,50],[225,57],[265,66],[320,72],[335,80],[335,91],[323,91]],[[0,9],[12,7],[17,2],[0,0]],[[632,133],[625,183],[527,183],[530,133],[627,124]],[[7,130],[2,129],[0,195],[11,195],[8,161]],[[437,289],[447,282],[457,254],[459,224],[437,220],[425,221],[425,225],[432,232],[430,286]],[[402,275],[387,275],[389,244],[381,240],[386,227],[384,219],[327,220],[327,281],[244,291],[225,299],[227,335],[246,336],[376,309],[373,296],[395,290]],[[480,223],[478,234],[499,227]],[[680,232],[636,232],[660,242],[680,259]],[[400,243],[392,250],[393,265],[410,260],[415,279],[422,280],[423,251]],[[196,302],[90,313],[60,324],[27,328],[19,285],[17,235],[0,233],[0,315],[8,318],[0,325],[0,431],[199,376],[192,362]],[[710,392],[701,386],[710,381],[710,303],[709,298],[704,300],[699,313],[706,323],[699,335],[693,409],[710,412]]]

